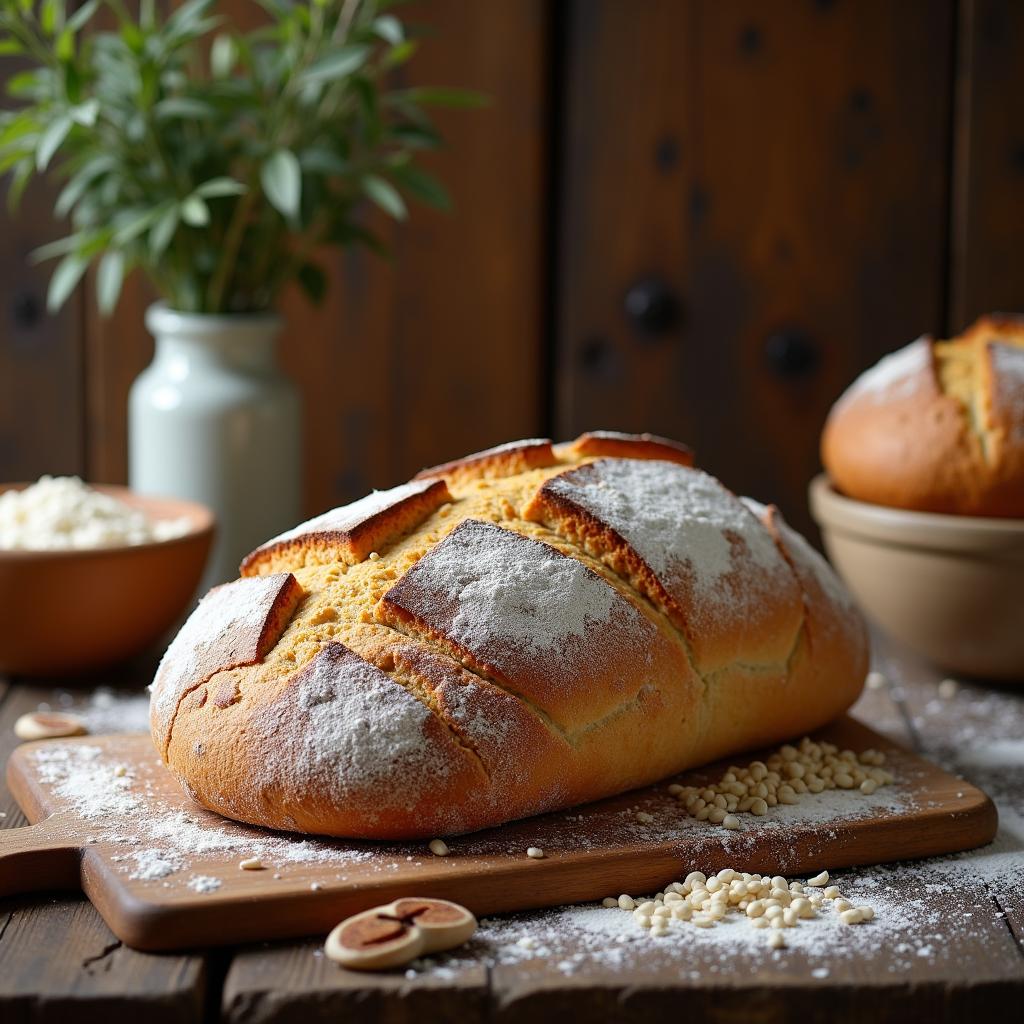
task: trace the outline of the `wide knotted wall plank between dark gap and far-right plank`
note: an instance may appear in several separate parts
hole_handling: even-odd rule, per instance
[[[810,527],[831,401],[942,327],[951,32],[949,2],[572,4],[559,434],[680,437]],[[650,276],[680,313],[645,335]]]

